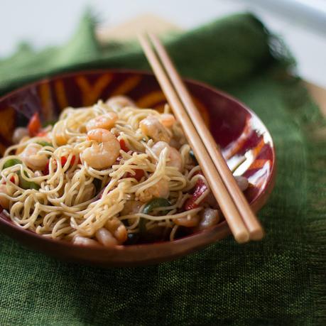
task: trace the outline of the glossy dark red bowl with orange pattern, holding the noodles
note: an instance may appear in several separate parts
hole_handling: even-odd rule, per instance
[[[257,212],[271,194],[276,173],[275,149],[266,126],[254,112],[228,94],[200,82],[186,80],[185,83],[224,157],[246,156],[239,173],[249,178],[251,186],[245,195]],[[162,109],[166,103],[156,78],[148,72],[93,70],[41,80],[0,99],[0,151],[3,153],[11,145],[16,126],[26,126],[36,111],[43,121],[53,121],[65,107],[87,106],[97,99],[118,94],[131,97],[139,107]],[[0,230],[22,244],[60,259],[104,267],[169,261],[230,234],[223,221],[212,229],[175,241],[112,248],[83,247],[22,229],[3,213],[0,214]]]

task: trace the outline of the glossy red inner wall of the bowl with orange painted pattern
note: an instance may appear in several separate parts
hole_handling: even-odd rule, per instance
[[[187,86],[229,166],[234,168],[245,160],[235,174],[249,178],[251,185],[245,195],[258,209],[255,202],[266,191],[275,163],[273,142],[266,127],[228,95],[197,82],[188,81]],[[26,126],[36,111],[44,122],[54,121],[65,107],[89,106],[97,99],[119,94],[134,99],[138,107],[162,110],[166,103],[153,75],[122,70],[72,73],[11,92],[0,99],[0,151],[3,153],[11,145],[16,126]]]

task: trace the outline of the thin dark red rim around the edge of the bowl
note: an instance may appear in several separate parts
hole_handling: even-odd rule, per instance
[[[77,70],[75,72],[73,72],[73,71],[72,72],[63,72],[63,73],[54,74],[52,76],[44,77],[40,80],[36,80],[35,82],[30,82],[26,85],[23,85],[22,87],[13,89],[12,91],[1,96],[0,102],[4,102],[6,99],[8,99],[9,97],[13,96],[14,94],[16,94],[18,92],[22,92],[28,88],[36,87],[38,85],[42,85],[47,82],[53,82],[55,80],[60,80],[60,79],[67,78],[67,77],[75,77],[77,75],[92,75],[92,74],[96,75],[96,74],[105,74],[105,73],[111,73],[112,75],[120,74],[120,73],[122,73],[122,74],[138,74],[138,75],[146,75],[146,76],[155,78],[155,75],[153,74],[153,72],[150,72],[148,70],[136,70],[136,69],[125,69],[125,68],[121,68],[121,69],[119,69],[119,68],[100,69],[99,68],[99,69],[89,69],[89,70]],[[261,121],[259,116],[257,116],[254,111],[249,109],[249,107],[247,107],[246,104],[239,101],[239,99],[236,99],[232,95],[227,94],[226,92],[224,92],[218,88],[207,85],[205,82],[193,80],[188,77],[186,77],[186,78],[183,77],[182,79],[186,84],[189,83],[189,84],[192,84],[195,86],[200,86],[200,87],[209,89],[210,92],[217,93],[220,96],[226,98],[227,100],[229,100],[231,102],[235,102],[237,105],[242,107],[248,114],[250,114],[251,116],[254,116],[259,121],[259,123],[264,127],[264,129],[266,129],[266,131],[268,132],[268,135],[270,136],[270,145],[271,145],[273,164],[271,165],[271,173],[268,176],[268,180],[266,181],[266,186],[263,189],[263,192],[261,192],[259,197],[257,197],[256,200],[254,201],[254,203],[251,204],[251,208],[254,210],[254,212],[257,212],[258,210],[261,209],[261,207],[263,207],[263,205],[265,205],[266,200],[268,199],[269,195],[271,194],[271,191],[273,190],[273,186],[275,183],[276,148],[275,148],[275,143],[273,141],[273,137],[271,136],[271,133],[268,131],[266,125],[263,124],[263,121]],[[265,200],[263,200],[264,197],[266,197]],[[259,200],[262,200],[262,202],[259,203]],[[260,205],[255,205],[255,203],[259,203]],[[52,239],[52,238],[48,238],[48,237],[43,237],[40,234],[36,234],[36,232],[33,232],[28,229],[23,229],[22,227],[19,227],[18,225],[13,224],[13,222],[11,222],[11,220],[4,219],[3,217],[0,217],[0,224],[2,224],[5,229],[12,229],[13,232],[16,234],[21,233],[21,234],[24,234],[29,239],[34,238],[37,241],[44,241],[46,244],[49,244],[49,245],[55,244],[55,245],[60,245],[60,246],[69,248],[69,249],[81,249],[81,248],[86,249],[87,248],[90,251],[97,251],[97,252],[102,252],[102,253],[107,253],[109,251],[112,251],[115,253],[121,253],[121,249],[125,252],[129,251],[130,253],[132,253],[134,251],[139,252],[141,250],[146,250],[149,247],[154,248],[154,249],[164,249],[165,246],[170,247],[171,245],[178,246],[178,245],[182,245],[182,244],[188,244],[188,242],[190,242],[190,241],[194,241],[195,239],[201,239],[202,237],[205,237],[205,235],[208,236],[209,234],[212,236],[213,234],[219,233],[219,231],[224,232],[224,234],[231,234],[229,226],[228,226],[227,222],[224,220],[210,229],[205,229],[200,232],[195,232],[193,234],[190,234],[185,237],[181,237],[179,239],[175,239],[173,241],[157,241],[157,242],[153,242],[153,243],[132,244],[132,245],[121,244],[121,245],[116,245],[116,246],[112,246],[112,247],[104,247],[104,246],[87,246],[87,247],[85,247],[85,246],[82,246],[79,244],[72,244],[72,242],[61,241],[61,240],[56,240],[56,239]],[[219,238],[217,238],[217,239],[219,239]],[[206,246],[208,244],[212,244],[212,241],[208,241],[205,244],[202,244],[201,246]],[[194,246],[192,248],[192,251],[195,251],[195,249],[197,249],[197,246]],[[40,251],[43,251],[43,250],[40,249]]]

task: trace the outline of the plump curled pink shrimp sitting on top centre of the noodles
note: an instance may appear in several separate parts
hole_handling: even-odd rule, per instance
[[[119,156],[120,143],[116,136],[107,129],[92,129],[87,136],[93,143],[81,154],[84,161],[96,169],[105,169],[112,166]]]

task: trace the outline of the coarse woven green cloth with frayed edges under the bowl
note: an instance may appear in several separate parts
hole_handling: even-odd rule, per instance
[[[229,237],[171,263],[72,265],[0,235],[0,325],[326,325],[325,122],[277,38],[249,14],[177,36],[180,72],[249,105],[273,135],[278,180],[260,242]],[[68,70],[147,68],[136,45],[99,45],[86,16],[62,47],[22,45],[0,61],[0,92]]]

